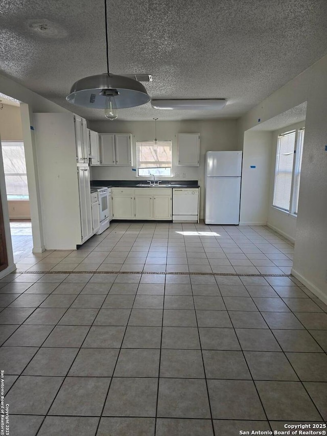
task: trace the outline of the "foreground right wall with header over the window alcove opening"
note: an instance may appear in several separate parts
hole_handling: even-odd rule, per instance
[[[327,56],[239,120],[239,141],[258,119],[269,120],[307,101],[292,273],[327,303]]]

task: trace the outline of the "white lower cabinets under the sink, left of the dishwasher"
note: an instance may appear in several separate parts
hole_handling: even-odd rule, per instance
[[[171,220],[172,189],[112,188],[113,219]]]

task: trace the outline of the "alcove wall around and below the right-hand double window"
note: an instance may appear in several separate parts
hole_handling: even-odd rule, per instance
[[[298,130],[305,126],[305,121],[292,124],[283,129],[274,130],[272,132],[271,142],[271,168],[269,180],[269,205],[268,205],[268,221],[267,224],[276,232],[285,236],[290,241],[295,241],[296,232],[296,216],[280,209],[274,208],[272,205],[274,195],[274,181],[275,181],[275,168],[276,168],[276,153],[278,135],[289,132],[290,130]]]

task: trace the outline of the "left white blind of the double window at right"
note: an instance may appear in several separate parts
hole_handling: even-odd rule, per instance
[[[278,136],[273,206],[290,210],[295,131]]]

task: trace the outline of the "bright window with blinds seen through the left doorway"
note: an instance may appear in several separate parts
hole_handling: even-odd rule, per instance
[[[27,200],[29,191],[23,142],[2,141],[6,191],[8,200]]]

